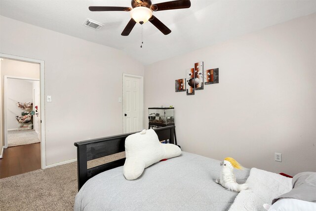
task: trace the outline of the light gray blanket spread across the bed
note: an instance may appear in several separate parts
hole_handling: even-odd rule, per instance
[[[179,157],[158,162],[142,176],[126,180],[123,167],[89,179],[75,200],[75,211],[227,211],[237,196],[215,183],[220,161],[182,152]],[[234,170],[244,183],[249,170]]]

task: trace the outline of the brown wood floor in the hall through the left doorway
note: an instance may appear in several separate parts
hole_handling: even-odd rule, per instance
[[[0,178],[40,169],[40,143],[13,146],[4,149],[0,159]]]

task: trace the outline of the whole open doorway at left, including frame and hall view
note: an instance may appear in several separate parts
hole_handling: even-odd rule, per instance
[[[0,54],[0,178],[44,169],[43,61]],[[42,112],[41,112],[42,110]],[[25,161],[25,162],[24,162]]]

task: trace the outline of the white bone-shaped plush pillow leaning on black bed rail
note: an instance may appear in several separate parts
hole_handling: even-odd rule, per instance
[[[144,169],[166,158],[179,156],[181,149],[171,143],[160,143],[153,129],[129,135],[125,139],[125,163],[123,174],[126,179],[137,179]]]

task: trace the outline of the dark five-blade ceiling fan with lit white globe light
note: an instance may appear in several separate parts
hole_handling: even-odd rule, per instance
[[[170,10],[170,9],[189,8],[191,6],[191,1],[190,0],[173,0],[173,1],[168,1],[168,2],[152,4],[151,0],[132,0],[131,5],[133,8],[122,7],[122,6],[89,6],[89,10],[90,11],[130,12],[130,15],[132,18],[130,19],[127,26],[122,32],[121,35],[123,36],[129,35],[129,33],[132,31],[136,23],[140,23],[142,25],[146,23],[147,21],[151,22],[164,35],[168,35],[171,33],[171,30],[153,15],[153,11],[156,12],[156,11]]]

